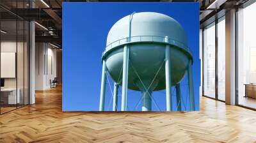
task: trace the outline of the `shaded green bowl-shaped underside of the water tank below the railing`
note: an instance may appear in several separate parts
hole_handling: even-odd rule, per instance
[[[164,52],[165,45],[154,43],[130,45],[128,72],[129,89],[140,91],[136,85],[136,82],[140,81],[136,72],[138,72],[141,79],[153,80],[160,67],[161,69],[156,77],[158,84],[154,91],[165,89]],[[172,61],[172,85],[175,85],[184,77],[186,69],[188,68],[189,58],[184,52],[177,49],[171,49],[170,58]],[[116,49],[111,52],[111,54],[106,57],[106,66],[112,79],[122,85],[122,74],[120,73],[122,73],[123,66],[123,49]]]

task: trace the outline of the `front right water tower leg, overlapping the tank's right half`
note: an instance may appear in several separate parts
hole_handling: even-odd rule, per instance
[[[166,111],[172,110],[172,70],[171,70],[171,48],[166,45],[165,49],[165,82],[166,82]]]

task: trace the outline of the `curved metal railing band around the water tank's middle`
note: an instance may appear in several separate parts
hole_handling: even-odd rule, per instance
[[[127,38],[122,38],[120,40],[113,41],[109,45],[106,46],[106,50],[112,49],[113,47],[118,47],[119,45],[124,45],[127,43],[136,43],[136,42],[159,42],[159,43],[169,43],[170,45],[175,45],[177,47],[180,47],[186,51],[188,51],[190,54],[192,54],[191,50],[189,47],[184,45],[184,43],[177,41],[177,40],[172,40],[170,38],[162,37],[162,36],[131,36],[131,39],[129,37]]]

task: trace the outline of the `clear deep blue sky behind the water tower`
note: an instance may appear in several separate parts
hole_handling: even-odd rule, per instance
[[[101,56],[108,31],[115,22],[132,12],[154,11],[169,15],[184,27],[194,57],[193,81],[196,110],[199,110],[199,4],[198,3],[63,3],[63,110],[99,110]],[[107,80],[108,82],[108,80]],[[109,77],[110,87],[113,82]],[[188,79],[182,80],[182,110],[189,110]],[[128,110],[141,110],[141,93],[128,91]],[[152,110],[166,110],[165,91],[153,93]],[[176,109],[173,88],[173,109]],[[112,109],[106,85],[105,109]],[[118,94],[120,109],[121,94]]]

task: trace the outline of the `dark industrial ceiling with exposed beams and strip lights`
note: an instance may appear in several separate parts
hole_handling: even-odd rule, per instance
[[[62,36],[62,2],[94,2],[97,0],[1,0],[0,15],[2,23],[10,34],[15,34],[13,20],[35,20],[36,41],[51,42],[61,47]],[[99,0],[100,2],[114,0]],[[128,0],[121,0],[128,1]],[[138,1],[138,0],[129,0]],[[143,0],[139,0],[143,1]],[[148,0],[163,1],[170,0]],[[200,3],[200,25],[214,17],[221,10],[227,10],[247,0],[171,0],[172,2],[199,2]],[[225,12],[224,12],[225,13]],[[3,26],[2,26],[3,27]],[[20,28],[21,29],[21,28]],[[18,29],[18,33],[20,33]],[[11,32],[12,31],[12,32]]]

